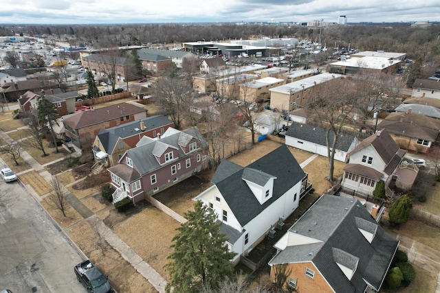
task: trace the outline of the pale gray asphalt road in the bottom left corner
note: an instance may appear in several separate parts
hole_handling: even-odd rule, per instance
[[[85,292],[74,274],[82,260],[28,190],[0,178],[0,290]]]

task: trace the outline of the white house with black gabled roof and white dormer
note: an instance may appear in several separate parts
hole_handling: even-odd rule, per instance
[[[241,167],[223,160],[211,182],[195,200],[214,210],[228,247],[238,262],[259,244],[268,232],[289,217],[300,198],[310,191],[307,174],[286,145],[263,158]]]

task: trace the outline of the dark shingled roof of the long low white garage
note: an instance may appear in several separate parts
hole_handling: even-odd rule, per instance
[[[293,122],[292,125],[289,126],[289,130],[287,130],[286,136],[327,146],[327,141],[325,140],[325,129],[308,124]],[[355,139],[356,138],[350,134],[339,134],[336,149],[347,152]],[[329,132],[329,141],[333,141],[332,131]]]

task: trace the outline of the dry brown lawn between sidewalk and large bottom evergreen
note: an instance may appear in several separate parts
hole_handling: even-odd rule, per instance
[[[162,277],[168,279],[164,265],[168,262],[166,257],[171,252],[171,240],[179,226],[179,222],[148,205],[139,213],[116,224],[113,232],[162,274]]]

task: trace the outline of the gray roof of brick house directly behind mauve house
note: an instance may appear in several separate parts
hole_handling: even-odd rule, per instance
[[[166,118],[164,115],[146,117],[141,121],[144,122],[145,131],[173,124],[173,121]],[[107,152],[107,154],[111,154],[116,143],[118,143],[119,138],[125,139],[126,137],[132,137],[133,135],[140,134],[142,132],[143,131],[140,130],[140,121],[133,121],[120,126],[99,130],[98,139],[100,140],[105,152]]]

